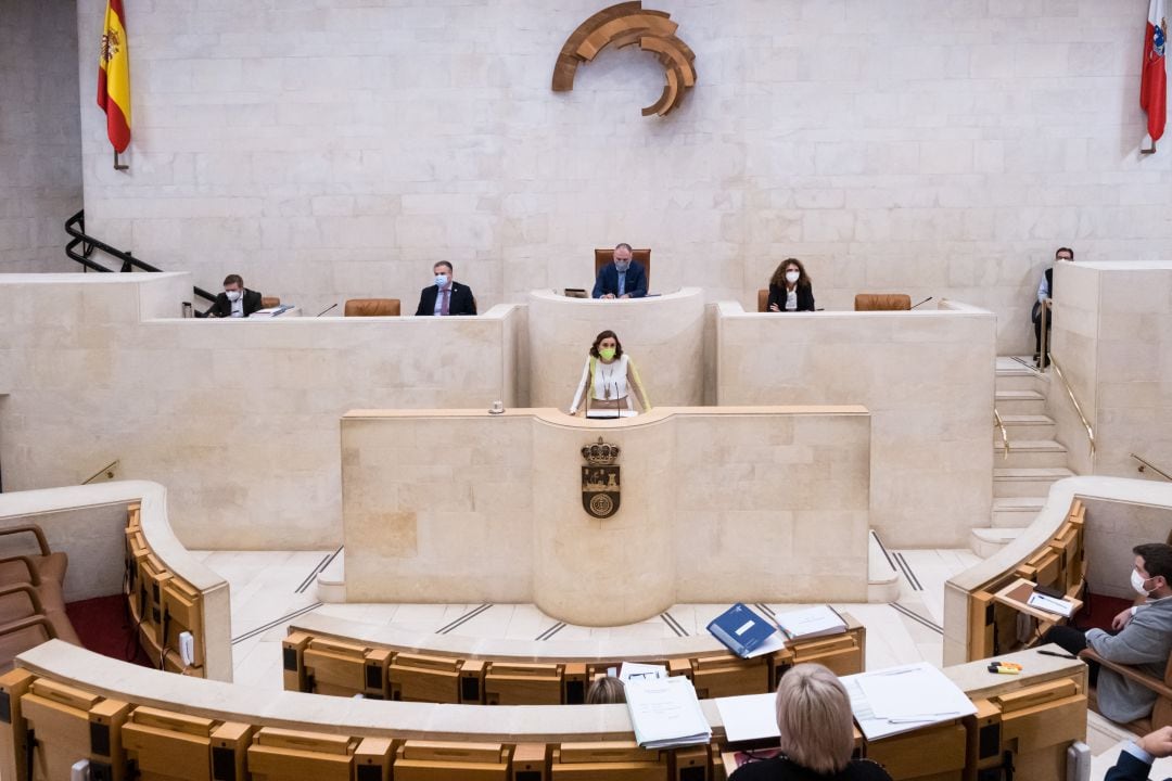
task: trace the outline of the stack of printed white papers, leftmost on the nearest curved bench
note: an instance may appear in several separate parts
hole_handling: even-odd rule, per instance
[[[696,690],[683,676],[632,680],[626,690],[635,740],[643,748],[693,746],[711,740],[713,729],[700,710]]]

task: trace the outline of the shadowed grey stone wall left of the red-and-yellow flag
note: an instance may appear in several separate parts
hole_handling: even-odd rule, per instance
[[[76,22],[74,0],[7,0],[0,12],[0,273],[80,269],[62,227],[82,203]],[[90,80],[96,55],[91,64]],[[82,91],[93,107],[95,89]]]

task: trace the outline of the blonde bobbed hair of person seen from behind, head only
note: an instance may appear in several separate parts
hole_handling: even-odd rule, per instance
[[[777,687],[782,752],[815,773],[837,773],[851,761],[854,731],[851,699],[841,681],[820,664],[799,664]]]

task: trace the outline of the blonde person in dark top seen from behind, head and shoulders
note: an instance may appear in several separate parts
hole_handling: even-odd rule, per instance
[[[851,759],[854,721],[843,683],[820,664],[795,665],[777,687],[782,753],[742,765],[729,781],[891,781],[883,766]]]

